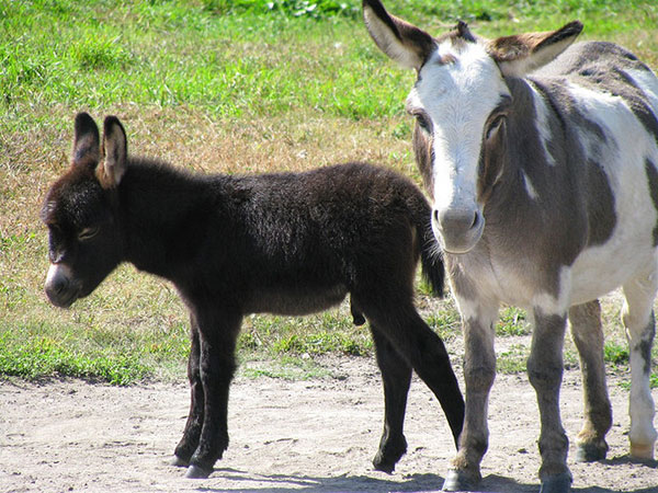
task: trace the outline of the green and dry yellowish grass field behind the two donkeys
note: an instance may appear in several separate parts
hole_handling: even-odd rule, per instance
[[[122,266],[70,310],[54,309],[42,293],[47,240],[39,203],[68,165],[78,111],[117,114],[132,152],[192,170],[305,170],[368,160],[420,183],[404,113],[415,76],[378,51],[360,5],[0,2],[0,375],[125,385],[184,374],[188,317],[167,283]],[[457,19],[497,36],[578,18],[585,38],[622,43],[658,66],[658,7],[651,1],[387,0],[386,7],[434,34]],[[450,299],[431,299],[420,285],[418,302],[449,348],[456,345],[460,321]],[[617,313],[605,325],[611,344],[623,347]],[[496,332],[526,337],[524,313],[502,310]],[[325,375],[315,357],[372,352],[367,329],[351,324],[347,305],[307,318],[249,317],[239,340],[240,362],[252,376]],[[521,371],[521,347],[509,353],[499,366]],[[606,357],[612,365],[616,356]],[[627,367],[623,358],[614,364]]]

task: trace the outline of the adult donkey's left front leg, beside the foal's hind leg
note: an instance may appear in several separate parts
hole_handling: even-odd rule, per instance
[[[489,443],[487,426],[489,391],[496,378],[494,324],[498,317],[498,306],[475,306],[473,301],[460,300],[458,297],[457,303],[465,343],[466,411],[464,428],[460,436],[460,449],[445,477],[444,491],[470,491],[481,480],[480,462]],[[464,307],[468,307],[468,311]]]

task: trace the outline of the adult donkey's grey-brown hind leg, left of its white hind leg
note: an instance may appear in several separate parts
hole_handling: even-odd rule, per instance
[[[585,398],[585,423],[577,438],[576,460],[591,462],[605,458],[605,434],[612,426],[612,406],[605,386],[603,328],[599,300],[571,307],[569,322],[580,355]]]

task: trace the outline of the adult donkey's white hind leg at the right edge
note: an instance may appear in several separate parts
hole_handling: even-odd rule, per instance
[[[656,333],[653,303],[658,279],[651,272],[624,285],[626,302],[622,320],[631,353],[631,456],[653,459],[656,429],[654,428],[654,399],[649,386],[651,345]]]

